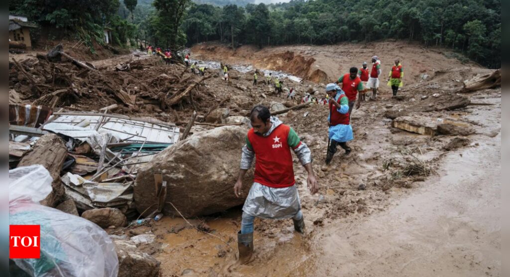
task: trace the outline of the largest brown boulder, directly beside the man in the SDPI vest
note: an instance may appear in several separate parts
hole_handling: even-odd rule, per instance
[[[243,180],[243,196],[234,195],[239,174],[241,148],[246,127],[224,126],[200,132],[179,141],[156,155],[138,170],[134,186],[135,205],[142,216],[154,212],[157,204],[154,174],[167,182],[163,213],[184,216],[207,215],[239,206],[253,182],[249,170]]]

